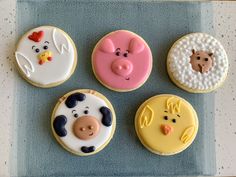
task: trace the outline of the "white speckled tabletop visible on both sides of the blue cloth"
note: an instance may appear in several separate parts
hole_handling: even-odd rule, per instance
[[[12,142],[16,134],[13,99],[14,47],[16,43],[16,2],[0,0],[0,176],[12,172],[17,148]],[[215,94],[215,147],[217,176],[236,176],[236,1],[213,2],[215,37],[224,45],[230,70],[224,86]]]

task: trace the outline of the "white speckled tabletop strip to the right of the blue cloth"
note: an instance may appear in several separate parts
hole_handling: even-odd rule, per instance
[[[214,31],[229,58],[226,82],[215,95],[215,145],[217,174],[236,175],[236,3],[217,2],[213,5]]]

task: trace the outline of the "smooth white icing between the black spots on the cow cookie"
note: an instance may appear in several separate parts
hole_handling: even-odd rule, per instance
[[[74,108],[67,108],[65,105],[65,100],[61,102],[57,110],[55,111],[55,117],[54,117],[55,119],[59,115],[66,116],[67,123],[65,125],[65,128],[67,130],[67,135],[65,137],[59,137],[59,136],[58,137],[66,147],[79,153],[83,153],[80,149],[82,146],[95,146],[95,148],[98,149],[99,147],[104,145],[111,137],[112,127],[113,127],[112,125],[106,127],[101,123],[102,114],[99,111],[99,109],[102,106],[106,106],[108,108],[106,102],[93,94],[89,93],[83,93],[83,94],[86,95],[86,99],[82,102],[79,101],[76,107]],[[86,106],[88,106],[89,109],[85,109]],[[76,110],[76,113],[79,115],[79,117],[90,115],[98,120],[98,122],[100,123],[100,130],[96,137],[90,140],[81,140],[74,135],[73,124],[77,119],[79,119],[79,117],[75,118],[74,113],[72,113],[72,110]],[[84,110],[88,110],[89,113],[84,114],[83,112]]]

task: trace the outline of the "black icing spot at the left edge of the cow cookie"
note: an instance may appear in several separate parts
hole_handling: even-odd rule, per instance
[[[67,122],[67,118],[64,115],[57,116],[53,121],[53,128],[56,134],[60,137],[64,137],[67,135],[67,131],[65,128]]]

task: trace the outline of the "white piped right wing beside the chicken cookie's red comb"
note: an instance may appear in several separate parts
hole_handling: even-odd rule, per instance
[[[52,31],[52,41],[59,54],[62,55],[64,52],[70,52],[68,37],[56,28]]]

